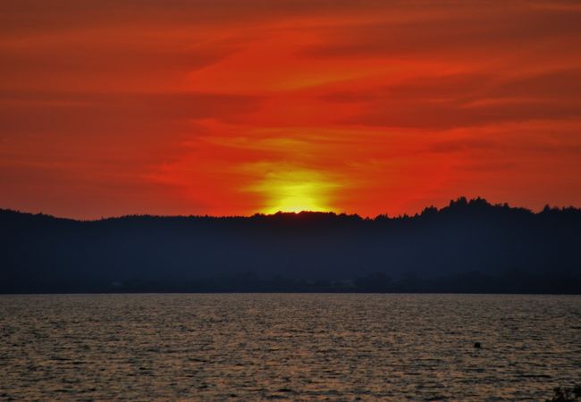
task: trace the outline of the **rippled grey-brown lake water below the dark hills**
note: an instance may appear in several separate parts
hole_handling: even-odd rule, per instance
[[[581,297],[0,296],[0,340],[2,400],[543,400]]]

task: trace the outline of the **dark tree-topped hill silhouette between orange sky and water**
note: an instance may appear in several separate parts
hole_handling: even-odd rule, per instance
[[[460,197],[421,214],[124,216],[0,210],[0,292],[581,293],[581,210]]]

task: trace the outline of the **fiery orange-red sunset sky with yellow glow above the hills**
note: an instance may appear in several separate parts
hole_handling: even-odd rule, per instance
[[[3,0],[0,207],[581,205],[577,1]]]

